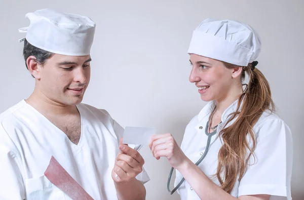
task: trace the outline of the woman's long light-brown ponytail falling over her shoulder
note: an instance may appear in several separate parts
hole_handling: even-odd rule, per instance
[[[224,65],[227,68],[242,67],[225,62]],[[244,176],[249,158],[254,156],[256,137],[253,126],[264,111],[275,111],[270,86],[262,72],[249,63],[248,66],[243,67],[242,82],[245,79],[245,73],[249,77],[248,87],[239,98],[237,111],[229,115],[227,123],[236,120],[231,126],[225,127],[220,132],[223,145],[218,152],[215,176],[218,178],[221,188],[228,193],[231,193],[237,177],[240,180]],[[251,144],[247,140],[248,135]]]

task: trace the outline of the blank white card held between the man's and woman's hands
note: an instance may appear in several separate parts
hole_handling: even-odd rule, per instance
[[[126,127],[123,143],[148,145],[149,139],[154,134],[156,134],[156,128]]]

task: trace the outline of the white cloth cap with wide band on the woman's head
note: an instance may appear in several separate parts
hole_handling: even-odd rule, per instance
[[[204,20],[193,32],[188,54],[247,66],[259,55],[261,40],[249,25],[233,20]]]

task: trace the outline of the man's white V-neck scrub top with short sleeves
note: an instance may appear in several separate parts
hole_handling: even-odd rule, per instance
[[[111,171],[124,129],[105,110],[77,107],[78,145],[24,100],[0,115],[0,199],[70,199],[44,176],[52,155],[95,200],[118,199]]]

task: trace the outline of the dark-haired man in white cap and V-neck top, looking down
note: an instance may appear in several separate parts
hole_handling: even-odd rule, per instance
[[[93,199],[145,199],[143,158],[122,144],[106,110],[81,103],[95,23],[50,9],[26,17],[21,41],[35,88],[0,114],[0,199],[83,199],[75,182]]]

